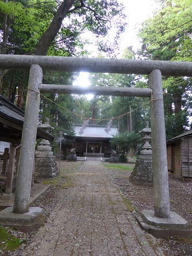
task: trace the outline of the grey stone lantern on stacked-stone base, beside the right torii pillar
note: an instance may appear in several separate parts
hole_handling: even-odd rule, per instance
[[[144,134],[142,140],[145,144],[142,146],[140,155],[137,155],[135,167],[130,175],[130,181],[135,185],[153,185],[152,146],[149,144],[151,129],[149,122],[145,122],[145,125],[145,128],[140,131]]]

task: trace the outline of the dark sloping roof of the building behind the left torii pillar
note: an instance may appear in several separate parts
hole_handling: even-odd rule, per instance
[[[18,143],[21,141],[25,112],[0,95],[0,141]],[[52,141],[54,137],[37,127],[37,138]]]

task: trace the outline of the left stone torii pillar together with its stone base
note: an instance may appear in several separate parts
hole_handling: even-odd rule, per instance
[[[29,73],[14,206],[2,210],[0,214],[0,224],[9,223],[7,224],[9,227],[17,227],[28,231],[40,227],[46,219],[44,209],[39,207],[29,208],[40,106],[39,85],[42,83],[42,78],[42,67],[33,64]]]

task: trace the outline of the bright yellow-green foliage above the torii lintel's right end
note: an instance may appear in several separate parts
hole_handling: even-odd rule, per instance
[[[142,53],[152,59],[174,60],[179,56],[179,60],[189,61],[191,14],[189,0],[163,1],[161,8],[152,18],[146,20],[140,29]],[[185,50],[183,48],[182,52],[186,39],[189,47],[185,44]]]

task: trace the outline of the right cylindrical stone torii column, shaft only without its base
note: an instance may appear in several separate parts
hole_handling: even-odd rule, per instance
[[[149,74],[150,122],[152,131],[152,166],[155,217],[170,218],[170,197],[168,190],[167,148],[163,106],[161,71],[156,69]]]

